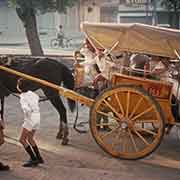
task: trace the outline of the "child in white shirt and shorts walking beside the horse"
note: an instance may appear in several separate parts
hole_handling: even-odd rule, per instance
[[[39,112],[39,96],[23,87],[20,78],[17,82],[17,90],[20,94],[20,104],[24,112],[24,123],[20,135],[20,143],[30,156],[30,160],[23,164],[24,167],[37,166],[39,163],[44,163],[39,148],[34,140],[34,135],[40,126],[40,112]]]

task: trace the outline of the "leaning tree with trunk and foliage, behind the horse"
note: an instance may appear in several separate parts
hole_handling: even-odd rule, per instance
[[[18,17],[21,19],[32,55],[43,55],[38,30],[37,13],[66,12],[77,0],[8,0],[15,7]]]

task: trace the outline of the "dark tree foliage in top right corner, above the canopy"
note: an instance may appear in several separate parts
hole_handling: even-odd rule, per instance
[[[162,0],[161,3],[169,11],[171,16],[171,11],[174,12],[175,21],[171,22],[171,25],[175,28],[179,28],[179,11],[180,11],[180,0]]]

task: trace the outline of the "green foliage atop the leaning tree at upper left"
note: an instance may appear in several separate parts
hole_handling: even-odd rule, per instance
[[[34,12],[46,13],[66,12],[67,7],[73,6],[78,0],[8,0],[15,8],[33,9]]]

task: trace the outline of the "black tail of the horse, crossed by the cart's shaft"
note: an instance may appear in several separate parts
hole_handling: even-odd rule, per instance
[[[74,76],[72,75],[71,70],[68,69],[67,67],[63,68],[62,76],[63,76],[63,86],[68,89],[73,90],[74,89]],[[76,102],[68,98],[67,98],[67,101],[68,101],[69,109],[71,110],[71,112],[74,112],[75,107],[76,107]]]

